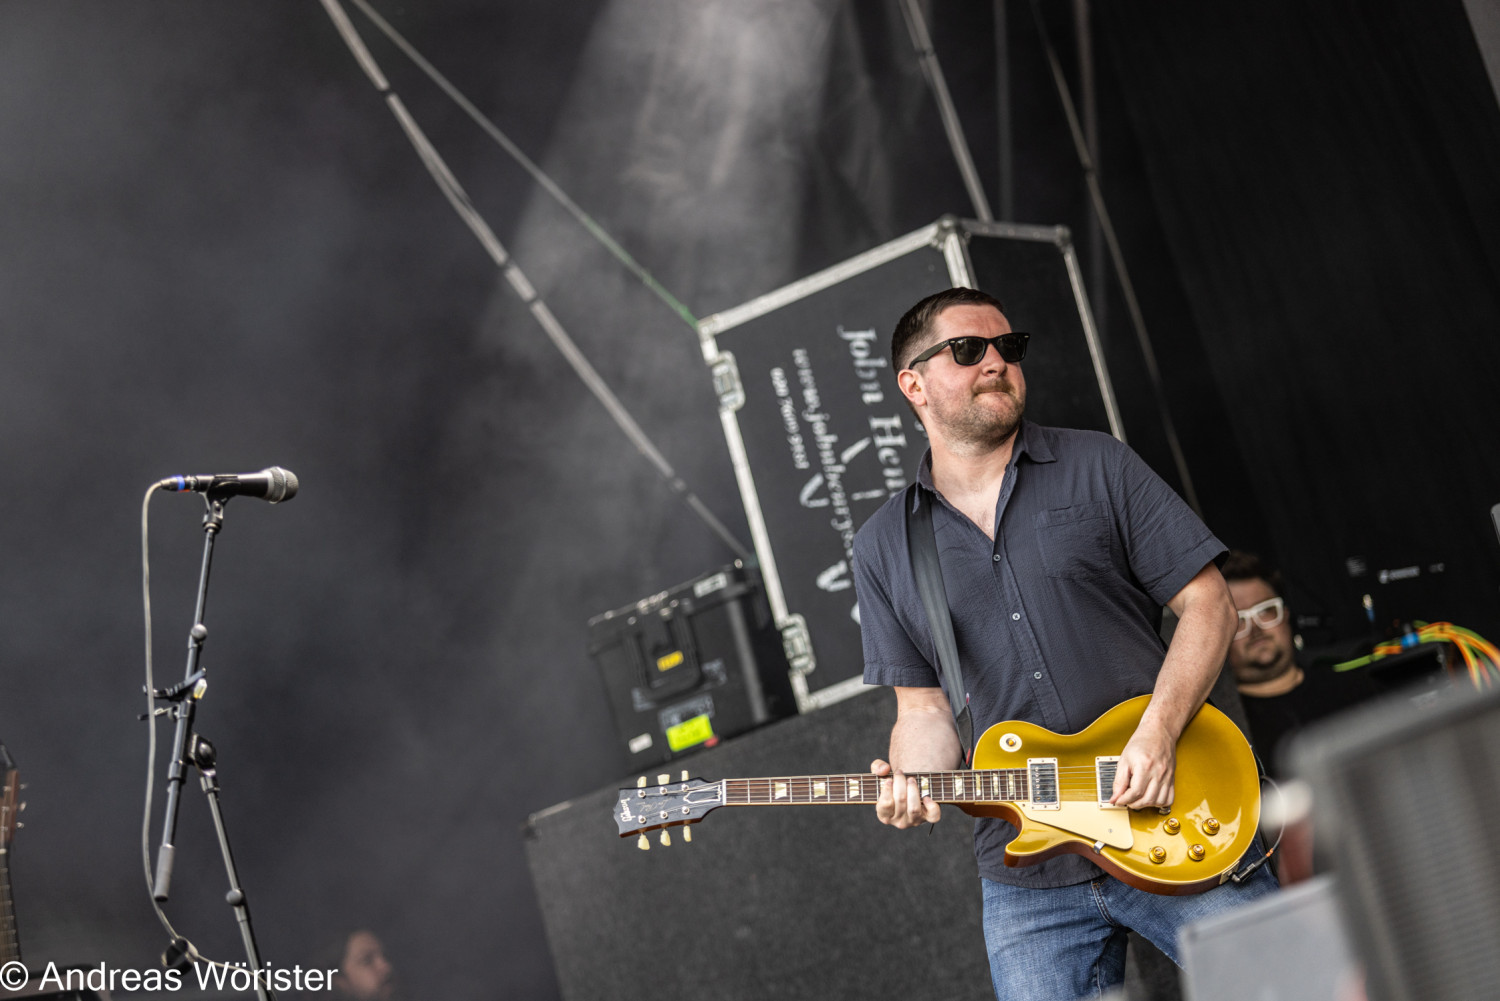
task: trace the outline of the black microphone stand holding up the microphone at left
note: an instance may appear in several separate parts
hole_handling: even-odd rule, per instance
[[[170,689],[152,692],[153,698],[171,702],[165,710],[177,720],[177,732],[172,737],[172,759],[166,774],[166,815],[162,822],[162,843],[156,852],[156,878],[152,891],[153,899],[165,902],[171,893],[172,863],[177,848],[172,839],[177,836],[177,812],[182,801],[182,788],[188,780],[188,765],[198,768],[198,782],[204,795],[208,797],[208,810],[213,813],[213,827],[219,834],[219,852],[224,855],[224,867],[230,876],[230,893],[225,902],[234,908],[234,917],[240,923],[240,938],[244,941],[244,954],[250,963],[255,978],[255,993],[260,1001],[274,1001],[268,977],[262,975],[261,954],[255,944],[255,929],[250,924],[250,905],[240,887],[240,876],[234,867],[234,852],[230,849],[230,833],[224,825],[224,810],[219,804],[219,774],[214,767],[216,752],[213,744],[194,732],[194,717],[198,710],[198,699],[208,687],[207,672],[198,666],[202,659],[202,644],[208,638],[208,629],[202,624],[206,606],[208,603],[208,569],[213,566],[213,542],[224,528],[224,507],[230,503],[228,494],[210,491],[204,495],[207,512],[202,516],[202,569],[198,573],[198,602],[194,609],[194,624],[188,632],[188,669],[183,680]],[[154,722],[152,723],[156,725]],[[166,956],[194,957],[196,953],[184,941],[172,942]],[[164,956],[165,959],[165,956]]]

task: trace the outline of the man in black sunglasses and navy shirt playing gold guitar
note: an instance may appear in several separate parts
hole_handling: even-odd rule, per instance
[[[933,534],[975,734],[1029,720],[1083,729],[1150,695],[1119,752],[1108,803],[1173,803],[1178,738],[1203,705],[1234,635],[1214,564],[1224,546],[1118,440],[1023,420],[1029,335],[968,288],[928,296],[897,324],[891,356],[932,449],[918,483],[855,539],[855,584],[870,684],[897,693],[890,762],[876,761],[880,822],[936,822],[940,806],[908,773],[960,764],[948,695],[910,566],[906,506],[932,500]],[[1038,338],[1041,347],[1041,338]],[[1170,648],[1162,605],[1178,615]],[[975,824],[996,996],[1098,996],[1124,981],[1126,930],[1179,959],[1178,929],[1275,890],[1269,869],[1191,896],[1128,885],[1078,854],[1005,864],[1016,828]]]

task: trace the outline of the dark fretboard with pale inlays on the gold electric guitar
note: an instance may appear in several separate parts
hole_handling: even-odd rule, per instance
[[[921,771],[909,777],[939,803],[1012,803],[1029,800],[1026,768]],[[724,806],[874,803],[880,779],[870,773],[724,779]]]

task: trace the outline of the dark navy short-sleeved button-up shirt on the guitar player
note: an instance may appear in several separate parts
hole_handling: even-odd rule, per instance
[[[906,506],[926,489],[975,735],[1008,719],[1072,734],[1149,693],[1161,606],[1224,552],[1192,509],[1116,438],[1022,422],[992,540],[933,489],[930,461],[854,540],[864,680],[939,686],[906,545]],[[1006,867],[1014,836],[975,824],[980,875],[1052,887],[1100,873],[1080,855]]]

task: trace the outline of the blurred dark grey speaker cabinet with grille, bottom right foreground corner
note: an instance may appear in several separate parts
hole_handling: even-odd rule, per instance
[[[1500,692],[1452,686],[1308,729],[1314,857],[1332,867],[1371,1001],[1500,984]]]

